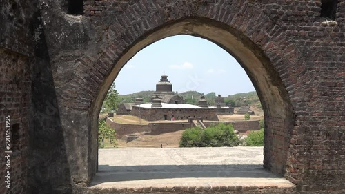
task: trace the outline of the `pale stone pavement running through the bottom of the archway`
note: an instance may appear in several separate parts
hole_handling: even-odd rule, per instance
[[[295,193],[295,185],[262,168],[262,147],[99,150],[93,193]],[[107,192],[109,191],[109,192]]]

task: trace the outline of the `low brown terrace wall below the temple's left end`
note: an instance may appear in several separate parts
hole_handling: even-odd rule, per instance
[[[150,132],[150,128],[148,125],[139,125],[139,124],[119,124],[114,122],[112,119],[108,118],[106,123],[111,128],[115,129],[116,131],[116,138],[120,139],[124,135],[132,134],[132,133],[140,133],[140,132]]]

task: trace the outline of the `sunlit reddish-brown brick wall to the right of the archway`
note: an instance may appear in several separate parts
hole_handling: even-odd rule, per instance
[[[266,138],[271,139],[268,144],[277,144],[266,155],[267,160],[276,157],[276,164],[283,164],[286,158],[277,153],[290,149],[286,177],[302,191],[326,189],[337,193],[336,190],[345,189],[345,166],[342,165],[345,155],[345,1],[338,2],[335,19],[320,17],[322,1],[281,1],[264,5],[264,12],[293,40],[300,52],[301,64],[306,66],[290,72],[282,69],[282,72],[298,74],[304,82],[308,72],[315,83],[315,88],[299,85],[291,92],[295,96],[308,93],[306,101],[295,104],[297,122],[291,144],[286,142],[290,132],[284,125],[279,130],[269,131]],[[286,122],[272,116],[267,119],[268,124]]]

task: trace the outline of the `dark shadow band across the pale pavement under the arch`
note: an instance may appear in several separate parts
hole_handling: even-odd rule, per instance
[[[99,172],[90,186],[104,182],[157,180],[174,178],[277,178],[266,171],[262,164],[253,165],[152,165],[108,166],[99,165]]]

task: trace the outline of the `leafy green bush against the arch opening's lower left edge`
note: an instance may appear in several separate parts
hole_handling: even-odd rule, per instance
[[[105,147],[104,139],[109,139],[110,142],[112,142],[113,144],[116,144],[115,135],[116,135],[115,130],[110,128],[110,126],[108,126],[106,124],[105,120],[101,120],[98,122],[98,146],[99,146],[99,148]]]

